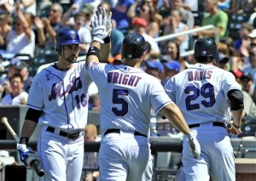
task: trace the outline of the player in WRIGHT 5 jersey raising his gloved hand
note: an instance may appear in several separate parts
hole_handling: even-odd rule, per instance
[[[88,73],[100,96],[100,179],[138,181],[142,180],[151,155],[148,143],[151,107],[172,120],[186,135],[191,156],[193,153],[197,158],[201,149],[159,80],[139,68],[147,52],[143,36],[131,33],[125,37],[121,48],[124,65],[99,63],[101,43],[112,30],[109,16],[106,17],[104,8],[98,8],[91,21],[93,42],[86,57]]]

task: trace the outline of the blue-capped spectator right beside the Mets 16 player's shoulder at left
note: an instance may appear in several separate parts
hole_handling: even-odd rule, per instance
[[[20,61],[20,64],[17,64],[15,66],[15,72],[19,73],[22,76],[24,82],[23,89],[26,91],[26,93],[29,93],[33,77],[29,76],[28,65],[26,64],[26,62]]]

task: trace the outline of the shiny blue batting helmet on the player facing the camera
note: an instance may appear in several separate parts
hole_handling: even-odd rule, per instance
[[[55,50],[57,54],[63,54],[62,46],[65,45],[72,45],[72,44],[79,44],[79,33],[78,31],[73,31],[67,27],[61,27],[55,36]]]

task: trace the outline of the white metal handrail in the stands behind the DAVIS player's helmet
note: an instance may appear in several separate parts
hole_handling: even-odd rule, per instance
[[[170,40],[170,39],[172,39],[174,37],[179,37],[179,36],[183,36],[183,35],[189,35],[189,34],[192,34],[194,32],[211,30],[211,29],[213,29],[214,33],[215,33],[215,42],[218,42],[219,41],[218,30],[217,30],[215,25],[205,25],[205,26],[201,26],[201,27],[198,27],[198,28],[194,28],[194,29],[188,30],[188,31],[177,32],[177,33],[166,35],[166,36],[162,36],[162,37],[155,37],[154,41],[155,42],[162,42],[162,41]],[[189,50],[189,51],[181,54],[181,57],[186,57],[186,56],[188,56],[190,54],[194,54],[194,50]]]

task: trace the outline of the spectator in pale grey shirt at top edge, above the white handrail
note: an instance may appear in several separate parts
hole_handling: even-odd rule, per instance
[[[172,9],[177,9],[182,14],[182,22],[189,26],[189,29],[193,29],[195,25],[194,15],[191,10],[186,8],[183,0],[172,0]]]

